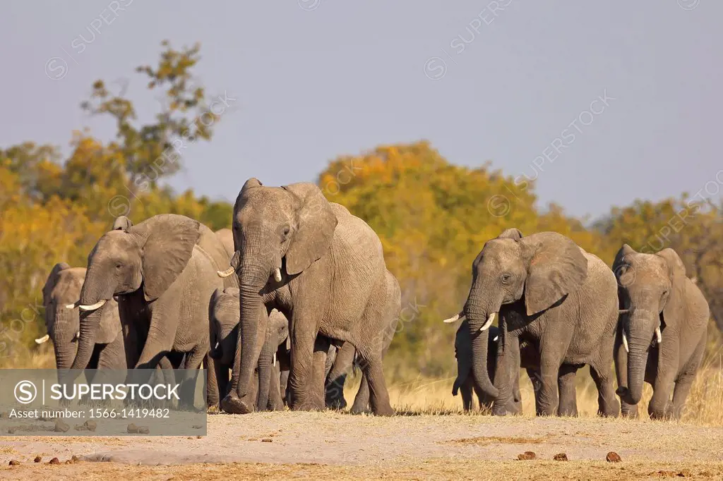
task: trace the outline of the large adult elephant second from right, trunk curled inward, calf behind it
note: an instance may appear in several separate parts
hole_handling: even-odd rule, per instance
[[[487,371],[488,329],[497,316],[500,352],[493,385]],[[619,414],[612,384],[615,275],[570,238],[553,232],[523,237],[508,229],[487,241],[472,264],[463,311],[453,319],[460,318],[469,323],[474,381],[495,397],[492,414],[507,412],[521,341],[531,342],[540,355],[538,415],[573,414],[558,410],[558,378],[573,377],[584,364],[598,389],[599,414]]]

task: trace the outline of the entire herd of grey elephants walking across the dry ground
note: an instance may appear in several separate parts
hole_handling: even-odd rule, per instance
[[[245,414],[346,407],[354,366],[352,412],[393,415],[382,360],[400,287],[376,233],[312,183],[250,178],[232,230],[215,233],[181,215],[118,217],[87,267],[56,264],[43,303],[48,334],[36,342],[52,339],[59,370],[205,367],[208,404]],[[525,368],[537,414],[576,415],[576,371],[589,365],[600,415],[621,404],[637,415],[646,381],[651,416],[680,417],[708,317],[672,249],[625,245],[611,270],[564,235],[505,230],[484,244],[463,309],[445,320],[461,321],[453,394],[465,410],[474,391],[495,415],[521,412]]]

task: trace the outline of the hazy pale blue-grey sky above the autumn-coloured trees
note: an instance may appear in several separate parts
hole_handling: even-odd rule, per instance
[[[237,99],[213,141],[184,152],[178,189],[232,200],[252,176],[314,181],[338,155],[428,139],[450,162],[536,177],[539,204],[573,215],[683,191],[719,197],[721,2],[69,5],[4,2],[4,147],[68,152],[84,126],[107,139],[112,124],[79,108],[98,78],[127,77],[142,116],[153,113],[132,72],[155,64],[167,38],[199,41],[198,77]]]

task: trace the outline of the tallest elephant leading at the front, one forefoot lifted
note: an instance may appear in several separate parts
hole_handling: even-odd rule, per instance
[[[250,178],[234,205],[233,231],[236,253],[220,274],[238,275],[241,335],[223,409],[251,410],[247,386],[259,355],[253,346],[266,331],[263,311],[277,308],[291,323],[292,409],[324,408],[324,381],[313,381],[313,366],[325,361],[323,339],[335,339],[351,342],[365,361],[372,411],[392,415],[379,333],[389,324],[388,306],[399,301],[372,228],[312,183],[266,187]]]

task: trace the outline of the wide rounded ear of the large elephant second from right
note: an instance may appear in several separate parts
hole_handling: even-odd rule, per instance
[[[587,259],[572,239],[544,232],[521,239],[529,256],[525,282],[527,315],[544,311],[572,294],[587,278]]]

